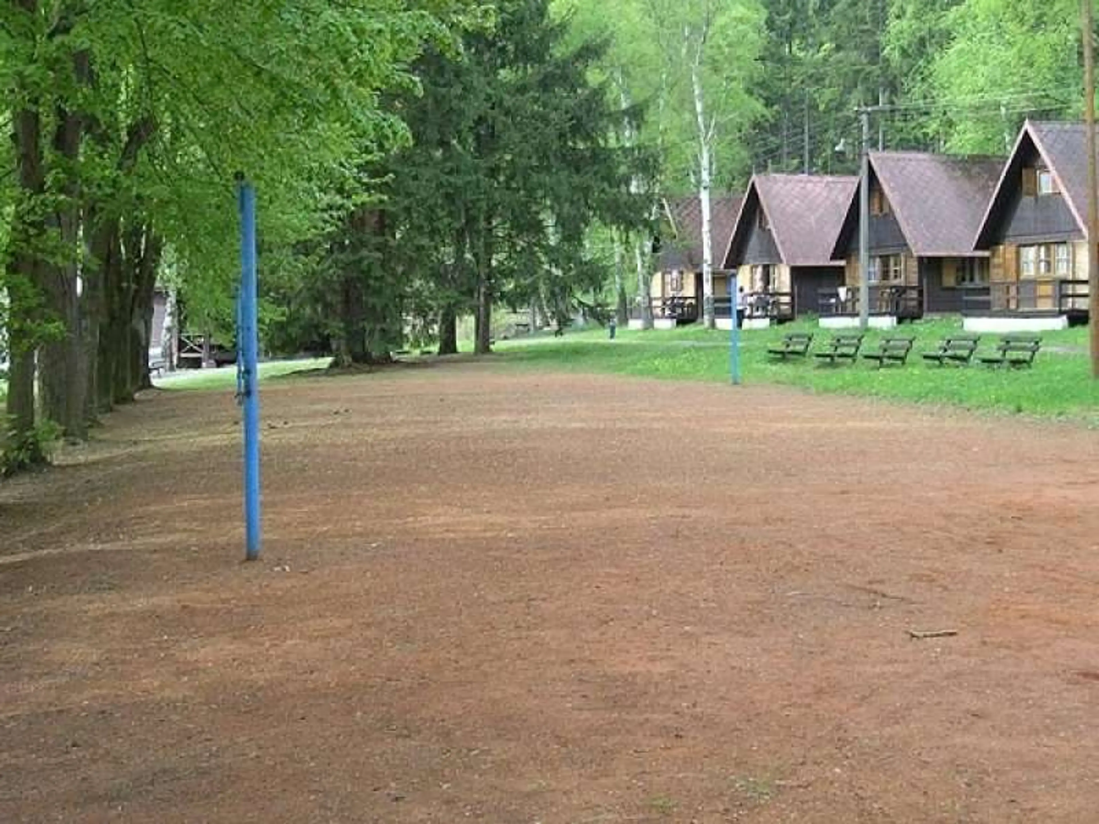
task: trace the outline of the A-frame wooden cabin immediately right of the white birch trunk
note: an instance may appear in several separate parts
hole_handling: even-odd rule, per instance
[[[748,320],[820,313],[820,296],[843,282],[832,248],[853,177],[756,175],[748,183],[724,256],[747,294]]]

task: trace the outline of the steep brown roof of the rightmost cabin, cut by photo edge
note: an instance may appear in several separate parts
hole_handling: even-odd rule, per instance
[[[1068,204],[1069,211],[1076,219],[1077,225],[1087,237],[1088,234],[1088,152],[1087,152],[1087,127],[1083,123],[1051,123],[1026,121],[1019,132],[1019,138],[1011,151],[1011,158],[1003,166],[996,191],[989,200],[988,209],[975,232],[976,244],[987,245],[989,221],[993,213],[1002,205],[1002,200],[1007,197],[1009,178],[1020,168],[1020,149],[1023,143],[1030,138],[1045,160],[1057,187]],[[1018,177],[1015,178],[1018,179]]]

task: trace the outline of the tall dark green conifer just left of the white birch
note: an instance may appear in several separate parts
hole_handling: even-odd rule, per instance
[[[371,169],[388,181],[379,208],[400,236],[381,268],[437,315],[443,352],[460,312],[474,313],[478,353],[490,349],[498,302],[567,316],[602,286],[593,223],[644,221],[630,182],[650,174],[645,155],[613,140],[635,112],[591,74],[607,44],[570,41],[548,7],[499,3],[496,25],[467,32],[459,53],[425,55],[420,93],[399,103],[412,143]]]

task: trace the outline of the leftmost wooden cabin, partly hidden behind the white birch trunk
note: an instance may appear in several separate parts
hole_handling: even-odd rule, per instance
[[[729,318],[729,278],[721,270],[721,253],[729,243],[741,198],[710,199],[715,307]],[[663,201],[660,248],[653,275],[653,319],[658,326],[693,323],[702,316],[702,209],[697,194]],[[720,310],[719,310],[720,314]]]

